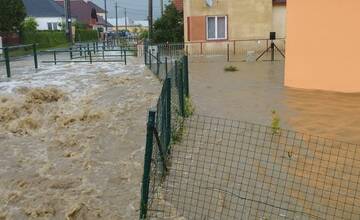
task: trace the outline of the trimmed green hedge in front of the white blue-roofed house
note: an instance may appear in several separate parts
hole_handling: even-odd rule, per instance
[[[36,31],[21,34],[23,44],[38,43],[40,48],[56,47],[67,43],[63,31]]]

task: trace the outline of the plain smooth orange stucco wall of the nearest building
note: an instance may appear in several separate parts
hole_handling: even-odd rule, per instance
[[[360,0],[288,0],[285,85],[360,92]]]

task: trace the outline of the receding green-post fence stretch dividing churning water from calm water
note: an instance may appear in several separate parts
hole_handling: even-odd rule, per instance
[[[149,111],[141,189],[140,219],[150,217],[153,200],[167,174],[171,146],[181,141],[184,119],[191,114],[188,61],[152,54],[145,45],[145,64],[163,82],[156,110]]]

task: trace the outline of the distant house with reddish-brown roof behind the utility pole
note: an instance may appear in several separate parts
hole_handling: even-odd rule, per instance
[[[64,6],[64,0],[55,0],[59,6]],[[71,0],[71,17],[76,19],[78,22],[85,24],[88,28],[98,29],[105,27],[105,20],[103,14],[105,10],[97,6],[95,3],[88,0]],[[97,20],[92,18],[92,12],[96,11]],[[111,26],[107,23],[108,27]]]

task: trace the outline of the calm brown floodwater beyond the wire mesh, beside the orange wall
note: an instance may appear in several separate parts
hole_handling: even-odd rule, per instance
[[[233,65],[237,72],[225,72]],[[270,125],[360,144],[360,93],[283,86],[284,62],[190,63],[192,99],[198,114]]]

